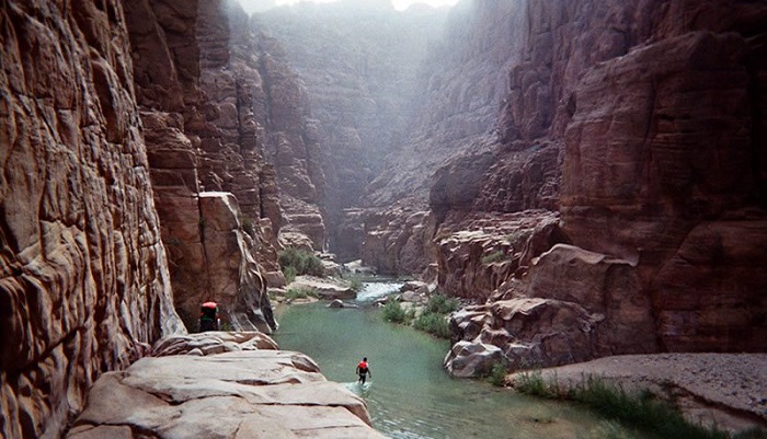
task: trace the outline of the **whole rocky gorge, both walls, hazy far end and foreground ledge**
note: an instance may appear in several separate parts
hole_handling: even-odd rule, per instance
[[[276,3],[0,0],[3,438],[382,437],[287,249],[459,298],[453,376],[767,370],[767,4]]]

